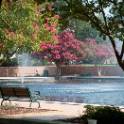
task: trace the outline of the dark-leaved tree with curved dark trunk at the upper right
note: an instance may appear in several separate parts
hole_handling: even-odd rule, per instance
[[[123,0],[59,0],[63,10],[59,10],[61,16],[66,20],[78,18],[91,23],[93,27],[101,32],[103,37],[108,37],[114,49],[118,64],[124,70],[124,1]],[[121,52],[118,51],[116,42],[122,41]]]

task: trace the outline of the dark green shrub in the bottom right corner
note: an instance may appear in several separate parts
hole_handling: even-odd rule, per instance
[[[119,108],[109,106],[85,106],[86,112],[83,118],[96,119],[98,124],[123,124],[124,113]]]

